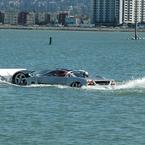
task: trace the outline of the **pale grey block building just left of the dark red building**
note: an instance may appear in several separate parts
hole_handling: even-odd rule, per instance
[[[17,25],[18,24],[18,12],[5,12],[4,24]]]

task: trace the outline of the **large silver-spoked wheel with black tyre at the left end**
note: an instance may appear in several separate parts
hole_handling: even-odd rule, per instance
[[[20,86],[27,85],[27,77],[24,73],[18,72],[14,75],[12,83]]]

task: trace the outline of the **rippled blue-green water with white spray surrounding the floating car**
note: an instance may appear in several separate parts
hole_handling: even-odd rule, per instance
[[[145,40],[131,35],[0,30],[0,68],[84,69],[117,82],[80,89],[1,82],[0,145],[144,145]]]

